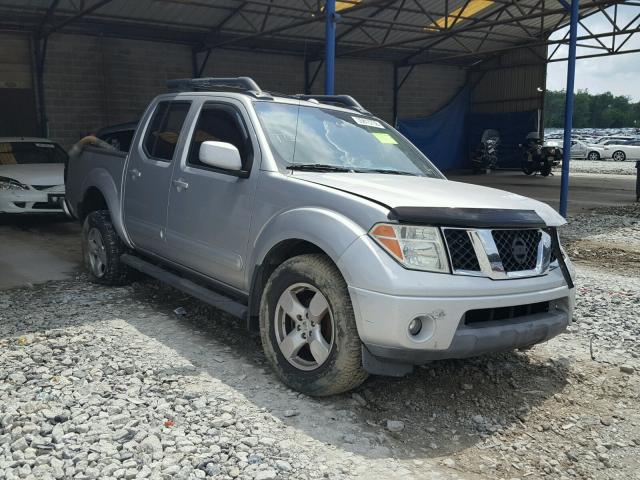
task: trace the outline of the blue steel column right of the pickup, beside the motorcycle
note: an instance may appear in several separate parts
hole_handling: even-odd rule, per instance
[[[569,161],[571,159],[571,131],[573,130],[573,90],[576,77],[576,38],[578,33],[578,4],[571,0],[569,26],[569,63],[567,65],[567,91],[564,104],[564,139],[562,142],[562,181],[560,183],[560,215],[567,217],[569,198]]]

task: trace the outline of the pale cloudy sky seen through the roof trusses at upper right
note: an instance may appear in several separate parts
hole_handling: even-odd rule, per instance
[[[613,18],[613,8],[607,10]],[[638,7],[618,7],[618,23],[623,26],[632,21],[638,13]],[[598,13],[584,20],[586,27],[594,34],[611,31],[611,23],[606,17]],[[630,28],[638,28],[638,21]],[[567,29],[554,33],[552,39],[562,38]],[[587,32],[578,27],[578,37],[587,35]],[[617,45],[626,38],[618,36]],[[611,45],[611,37],[601,38],[602,42]],[[600,46],[596,40],[583,43]],[[625,45],[623,50],[640,49],[640,33],[636,33]],[[549,47],[549,53],[554,47]],[[601,50],[592,48],[578,48],[580,54],[594,54]],[[568,49],[561,47],[554,58],[566,57]],[[547,67],[547,89],[564,90],[567,83],[567,62],[549,63]],[[591,93],[604,93],[610,91],[614,95],[627,95],[634,101],[640,101],[640,52],[625,55],[613,55],[609,57],[589,58],[578,60],[576,63],[576,90],[589,90]]]

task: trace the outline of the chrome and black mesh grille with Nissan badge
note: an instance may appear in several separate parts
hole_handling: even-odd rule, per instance
[[[544,275],[551,237],[539,229],[443,228],[454,274],[494,280]]]

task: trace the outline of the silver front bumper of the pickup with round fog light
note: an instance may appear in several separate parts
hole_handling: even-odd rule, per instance
[[[517,281],[517,280],[507,280]],[[512,350],[546,341],[566,329],[574,290],[556,287],[524,294],[482,297],[402,297],[349,289],[362,342],[375,356],[414,364]],[[509,311],[548,303],[540,313],[467,324],[471,311]],[[422,330],[409,333],[419,317]]]

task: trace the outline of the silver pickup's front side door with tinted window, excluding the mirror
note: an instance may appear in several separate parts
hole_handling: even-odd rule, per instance
[[[199,151],[204,141],[231,143],[240,151],[243,170],[257,170],[259,149],[246,118],[239,101],[203,101],[188,150],[173,171],[167,221],[172,260],[239,289],[257,175],[204,165]]]

